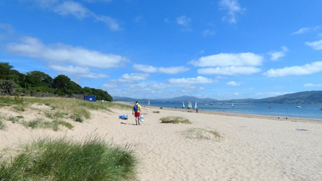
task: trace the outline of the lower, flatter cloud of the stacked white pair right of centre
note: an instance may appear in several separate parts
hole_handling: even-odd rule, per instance
[[[244,75],[251,75],[253,73],[260,72],[261,70],[256,67],[216,67],[216,68],[202,68],[198,69],[197,72],[199,74],[205,75],[236,75],[236,74],[244,74]]]

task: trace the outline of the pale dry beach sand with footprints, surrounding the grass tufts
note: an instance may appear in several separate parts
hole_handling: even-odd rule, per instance
[[[91,111],[92,118],[83,123],[72,122],[74,130],[52,131],[25,129],[9,121],[9,129],[0,130],[0,148],[15,144],[19,139],[38,135],[82,137],[95,129],[116,143],[132,143],[143,158],[141,180],[322,180],[322,124],[318,121],[292,122],[188,113],[174,110],[142,108],[145,122],[135,124],[131,111],[113,110],[114,113]],[[1,108],[2,113],[12,114]],[[186,110],[187,111],[187,110]],[[25,114],[27,114],[25,116]],[[118,115],[129,114],[128,120]],[[27,119],[37,115],[24,113]],[[164,124],[164,116],[182,116],[193,122]],[[121,124],[121,122],[125,124]],[[218,131],[221,142],[186,138],[181,134],[189,128]],[[308,131],[298,131],[308,129]]]

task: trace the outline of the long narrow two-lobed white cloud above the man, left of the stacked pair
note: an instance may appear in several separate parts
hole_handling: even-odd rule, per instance
[[[177,74],[181,72],[185,72],[190,70],[190,68],[185,66],[177,66],[177,67],[153,67],[151,65],[142,65],[142,64],[134,64],[133,68],[137,71],[143,71],[146,73],[166,73],[166,74]]]

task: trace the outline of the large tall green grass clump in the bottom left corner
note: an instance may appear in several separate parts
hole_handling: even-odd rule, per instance
[[[97,134],[83,141],[33,139],[0,160],[0,180],[6,181],[135,180],[139,164],[131,145],[113,146]]]

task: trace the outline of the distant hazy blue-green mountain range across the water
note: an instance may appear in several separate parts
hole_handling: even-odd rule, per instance
[[[174,98],[159,98],[159,99],[134,99],[129,97],[113,96],[115,101],[125,102],[181,102],[181,101],[197,101],[197,102],[227,102],[227,103],[275,103],[275,104],[322,104],[322,90],[304,91],[291,94],[285,94],[276,97],[269,97],[264,99],[231,99],[231,100],[217,100],[211,98],[197,98],[194,96],[181,96]]]

